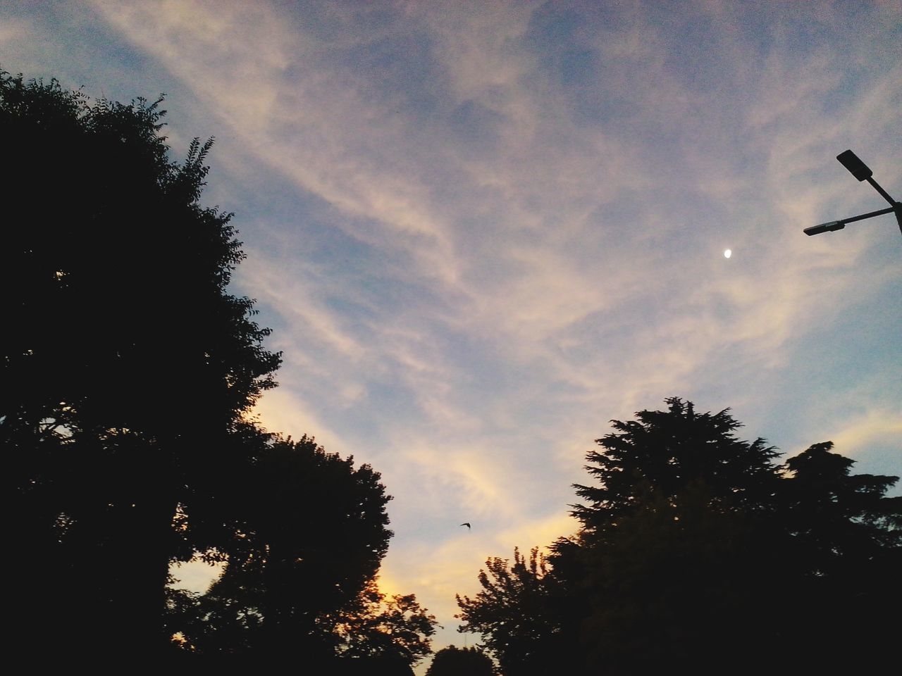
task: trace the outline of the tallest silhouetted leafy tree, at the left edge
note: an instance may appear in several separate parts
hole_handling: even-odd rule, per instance
[[[247,460],[244,415],[280,362],[227,291],[231,215],[199,203],[212,140],[171,161],[160,103],[0,72],[20,644],[160,644],[170,562],[208,540],[191,512]]]

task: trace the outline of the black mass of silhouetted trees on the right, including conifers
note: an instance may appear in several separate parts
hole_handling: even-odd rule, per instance
[[[505,676],[873,673],[897,660],[897,477],[815,443],[782,464],[728,410],[612,421],[548,556],[491,558],[458,597]]]

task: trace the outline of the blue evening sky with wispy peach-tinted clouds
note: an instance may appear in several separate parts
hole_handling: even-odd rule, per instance
[[[382,472],[435,648],[666,397],[902,474],[899,227],[802,233],[887,206],[846,149],[902,199],[898,0],[2,2],[0,68],[215,137],[284,358],[257,414]]]

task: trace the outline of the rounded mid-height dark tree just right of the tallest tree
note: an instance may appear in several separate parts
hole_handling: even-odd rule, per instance
[[[218,543],[222,575],[201,599],[206,650],[281,651],[328,643],[318,619],[354,602],[379,570],[391,531],[380,475],[312,437],[273,437],[220,494],[234,531]],[[223,519],[223,516],[226,516]],[[240,635],[241,638],[236,638]]]

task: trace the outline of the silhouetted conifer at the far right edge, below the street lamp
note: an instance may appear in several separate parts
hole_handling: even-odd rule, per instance
[[[811,668],[876,672],[898,638],[887,610],[902,606],[902,497],[885,497],[897,477],[851,474],[854,461],[832,448],[815,443],[782,468],[785,560],[798,571],[787,639]],[[850,641],[849,618],[866,649]]]

